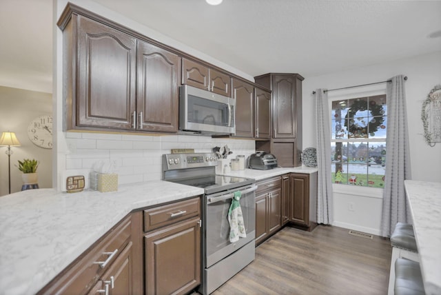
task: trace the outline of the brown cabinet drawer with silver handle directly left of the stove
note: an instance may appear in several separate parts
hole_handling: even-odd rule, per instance
[[[144,232],[201,215],[201,198],[144,210]]]

